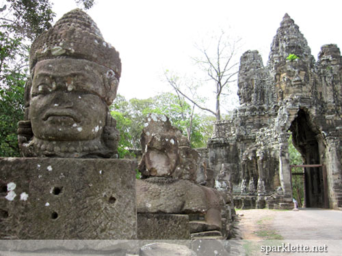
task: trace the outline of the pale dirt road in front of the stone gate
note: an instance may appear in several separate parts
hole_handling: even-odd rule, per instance
[[[342,240],[342,211],[318,208],[238,210],[244,240]]]

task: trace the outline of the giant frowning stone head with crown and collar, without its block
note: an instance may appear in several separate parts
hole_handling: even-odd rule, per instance
[[[119,133],[109,105],[116,98],[121,62],[96,24],[76,9],[31,46],[23,156],[113,158]]]

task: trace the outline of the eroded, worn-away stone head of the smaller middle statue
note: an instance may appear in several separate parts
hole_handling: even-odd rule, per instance
[[[139,170],[143,175],[169,177],[179,164],[181,130],[174,128],[166,115],[149,114],[142,130],[144,150]]]

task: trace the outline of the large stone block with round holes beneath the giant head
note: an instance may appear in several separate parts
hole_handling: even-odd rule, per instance
[[[135,239],[135,162],[0,158],[1,239]]]

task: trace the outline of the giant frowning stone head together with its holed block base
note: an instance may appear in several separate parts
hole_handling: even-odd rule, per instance
[[[117,157],[118,52],[77,9],[36,39],[29,68],[18,127],[29,158],[0,158],[0,238],[137,238],[135,161],[103,159]]]

